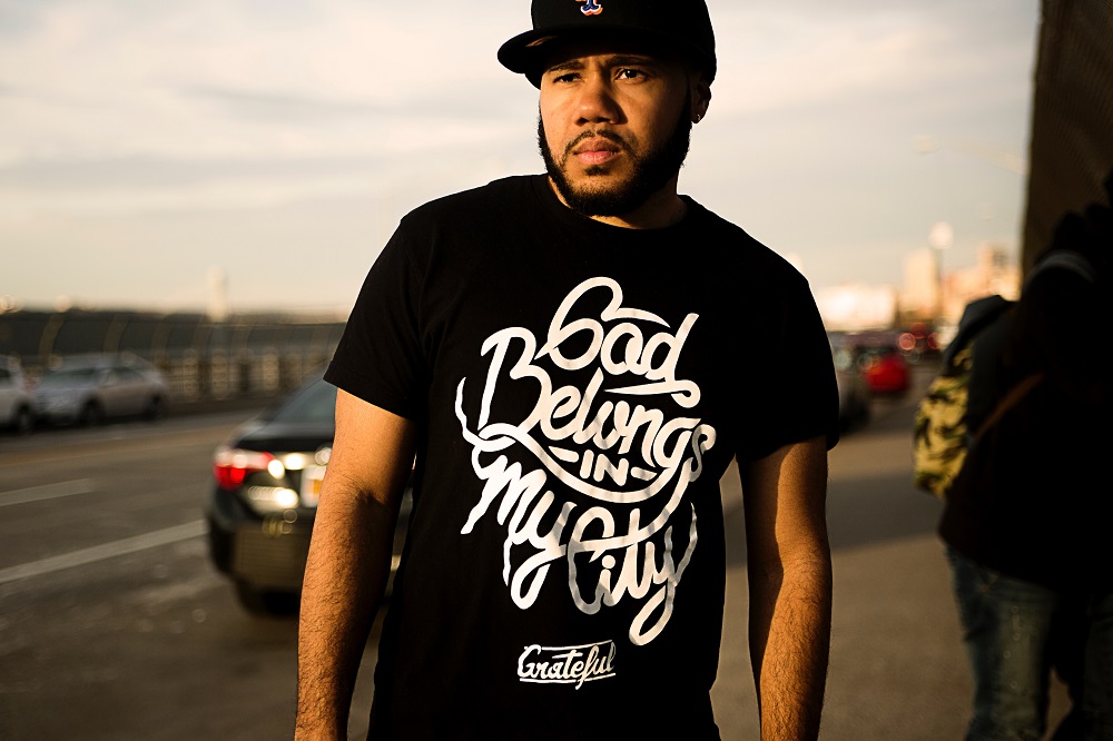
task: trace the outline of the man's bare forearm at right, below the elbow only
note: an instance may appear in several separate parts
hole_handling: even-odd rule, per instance
[[[830,554],[750,566],[750,658],[762,741],[816,739],[830,652]]]

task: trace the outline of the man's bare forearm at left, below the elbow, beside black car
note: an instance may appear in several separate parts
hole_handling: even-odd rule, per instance
[[[302,591],[296,739],[347,738],[359,659],[390,576],[394,522],[363,497],[335,497],[317,514]]]

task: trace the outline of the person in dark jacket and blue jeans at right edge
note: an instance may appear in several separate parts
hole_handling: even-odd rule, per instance
[[[1054,738],[1113,739],[1111,250],[1107,205],[1066,216],[991,358],[997,398],[972,385],[986,415],[1038,378],[973,443],[939,526],[975,684],[967,741],[1043,738],[1053,669],[1074,700]]]

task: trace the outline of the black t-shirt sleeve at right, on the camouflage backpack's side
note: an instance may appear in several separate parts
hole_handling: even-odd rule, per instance
[[[839,438],[838,386],[830,343],[819,309],[798,274],[775,304],[757,387],[743,389],[745,434],[738,456],[756,461],[778,448],[823,436],[827,448]]]

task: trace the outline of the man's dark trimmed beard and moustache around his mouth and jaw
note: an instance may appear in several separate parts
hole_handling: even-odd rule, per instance
[[[688,157],[688,148],[691,145],[690,110],[691,93],[686,98],[684,105],[680,109],[680,117],[677,119],[669,138],[659,147],[644,154],[634,152],[626,139],[609,129],[589,130],[569,142],[559,162],[553,157],[549,141],[545,139],[544,121],[541,120],[541,116],[538,116],[538,148],[545,162],[545,171],[556,185],[556,190],[560,191],[569,208],[589,217],[624,216],[640,208],[649,200],[650,196],[668,185],[669,180],[683,167],[684,158]],[[589,137],[607,139],[621,147],[632,164],[630,176],[607,189],[592,189],[590,185],[587,187],[574,186],[565,172],[568,159],[572,156],[573,147]],[[604,165],[595,165],[584,169],[589,181],[592,176],[605,174],[607,166]]]

